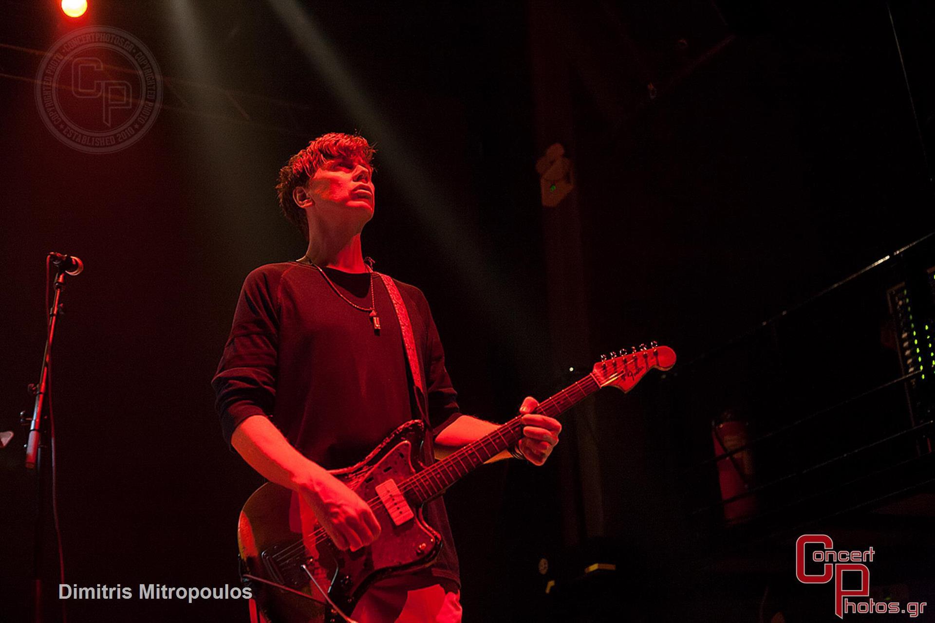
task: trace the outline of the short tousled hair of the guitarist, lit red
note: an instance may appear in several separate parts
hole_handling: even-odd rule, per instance
[[[309,221],[306,219],[305,210],[295,205],[293,191],[300,186],[305,186],[309,178],[315,175],[315,171],[328,161],[347,158],[351,161],[361,160],[370,164],[375,151],[376,149],[367,143],[367,139],[360,135],[332,132],[309,141],[307,148],[296,153],[280,169],[276,195],[280,200],[282,215],[308,240]]]

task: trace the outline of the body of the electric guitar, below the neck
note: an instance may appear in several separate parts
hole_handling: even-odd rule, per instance
[[[352,467],[331,474],[365,501],[379,500],[379,490],[399,484],[422,470],[418,448],[424,424],[401,425]],[[378,489],[378,486],[383,489]],[[240,512],[237,543],[242,573],[266,616],[275,623],[337,621],[309,579],[309,573],[346,615],[373,582],[392,573],[428,566],[439,555],[441,536],[425,523],[421,504],[405,495],[412,517],[391,517],[384,504],[371,504],[381,525],[380,537],[356,552],[340,551],[318,524],[311,508],[292,490],[273,483],[258,488]],[[398,525],[397,525],[398,524]],[[276,587],[267,583],[273,583]]]

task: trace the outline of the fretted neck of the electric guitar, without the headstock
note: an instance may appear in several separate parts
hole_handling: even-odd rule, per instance
[[[569,408],[600,389],[594,375],[587,375],[577,383],[572,383],[554,396],[539,403],[537,412],[551,418],[557,418]],[[523,437],[522,416],[489,432],[477,441],[462,446],[442,460],[438,460],[423,471],[411,476],[403,487],[408,488],[425,503],[440,495],[460,478],[474,471],[479,465],[496,457],[500,452],[510,449]]]

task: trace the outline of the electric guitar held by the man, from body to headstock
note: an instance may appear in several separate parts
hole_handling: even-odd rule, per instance
[[[675,364],[669,347],[640,347],[601,356],[591,374],[539,403],[538,413],[552,418],[605,387],[629,391],[649,370]],[[267,483],[240,512],[237,542],[241,577],[267,621],[293,623],[349,618],[367,587],[381,577],[429,566],[439,555],[439,532],[425,523],[424,503],[485,460],[523,437],[521,416],[496,431],[424,465],[419,448],[424,423],[412,420],[391,432],[356,465],[330,472],[361,496],[381,524],[380,536],[355,552],[341,551],[299,496]]]

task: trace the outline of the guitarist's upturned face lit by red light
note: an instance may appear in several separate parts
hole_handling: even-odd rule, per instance
[[[338,158],[324,163],[309,179],[309,195],[325,218],[373,217],[373,169],[362,160]]]

